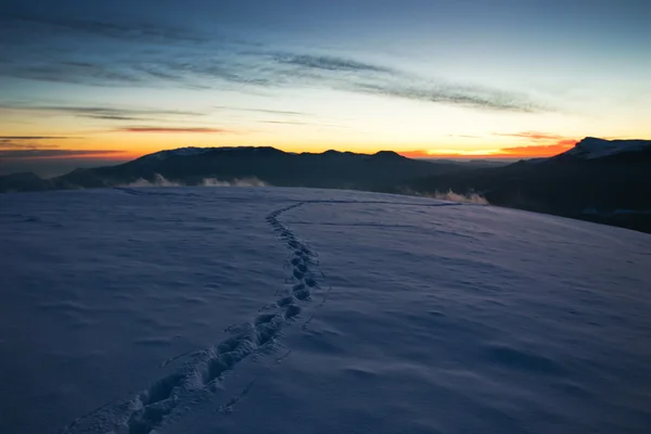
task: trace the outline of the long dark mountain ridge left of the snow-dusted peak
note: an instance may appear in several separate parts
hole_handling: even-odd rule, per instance
[[[414,177],[457,169],[455,164],[410,159],[393,151],[297,154],[270,146],[181,148],[116,166],[75,169],[52,179],[33,174],[0,177],[0,191],[102,188],[142,181],[155,184],[162,178],[184,186],[200,186],[205,179],[233,182],[253,178],[277,187],[387,191]]]

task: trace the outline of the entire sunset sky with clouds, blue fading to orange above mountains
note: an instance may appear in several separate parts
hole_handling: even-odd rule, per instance
[[[650,22],[648,0],[4,0],[0,166],[651,139]]]

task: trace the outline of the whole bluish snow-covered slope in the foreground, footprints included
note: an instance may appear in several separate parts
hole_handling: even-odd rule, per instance
[[[651,426],[648,234],[307,189],[0,201],[3,434]]]

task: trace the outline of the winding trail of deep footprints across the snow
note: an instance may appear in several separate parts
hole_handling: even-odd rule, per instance
[[[118,411],[126,414],[128,434],[149,434],[181,403],[192,400],[202,391],[215,390],[226,372],[232,370],[248,356],[260,353],[279,335],[282,327],[293,321],[308,302],[318,282],[312,269],[318,266],[317,255],[302,242],[290,228],[280,222],[279,216],[302,206],[297,203],[272,212],[266,218],[279,238],[290,250],[289,265],[292,275],[290,288],[278,293],[279,298],[260,309],[253,320],[229,328],[233,335],[214,347],[202,350],[197,357],[178,371],[159,379],[148,390]],[[196,400],[196,399],[194,399]],[[125,421],[123,416],[123,421]],[[63,431],[69,433],[80,420]]]

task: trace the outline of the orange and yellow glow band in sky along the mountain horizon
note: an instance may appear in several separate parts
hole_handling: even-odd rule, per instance
[[[14,131],[12,131],[14,132]],[[20,133],[25,136],[20,136]],[[410,146],[404,143],[387,141],[386,143],[366,143],[358,145],[337,142],[337,140],[319,140],[312,138],[298,143],[297,138],[277,135],[273,139],[264,137],[246,137],[229,130],[207,127],[127,127],[120,131],[92,131],[90,133],[27,135],[30,131],[15,131],[4,136],[5,159],[74,159],[105,161],[106,164],[136,159],[146,154],[183,146],[218,148],[269,145],[285,152],[320,153],[327,150],[350,151],[373,154],[379,151],[395,151],[409,158],[463,158],[463,159],[498,159],[498,158],[535,158],[549,157],[572,149],[577,140],[545,132],[492,133],[489,136],[446,136],[437,146],[419,144]],[[84,137],[86,136],[86,137]],[[92,137],[94,136],[94,137]],[[92,139],[91,139],[92,137]],[[495,137],[502,137],[499,141]],[[285,140],[282,140],[282,139]],[[89,140],[90,139],[90,140]],[[317,141],[315,141],[317,139]],[[323,138],[326,139],[326,138]],[[368,139],[367,139],[368,140]],[[528,144],[522,145],[518,142]],[[497,142],[497,143],[496,143]],[[501,142],[501,143],[500,143]],[[513,144],[511,144],[513,143]],[[417,148],[422,146],[422,148]],[[29,151],[34,154],[29,155]],[[0,153],[2,158],[2,153]]]

